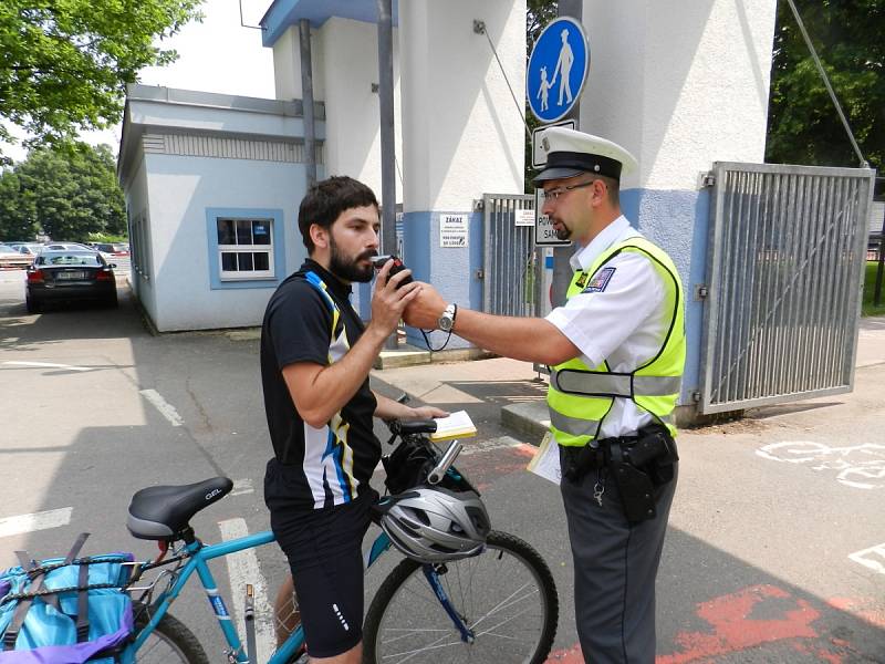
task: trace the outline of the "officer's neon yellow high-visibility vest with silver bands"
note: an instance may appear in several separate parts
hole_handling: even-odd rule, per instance
[[[563,446],[582,447],[598,437],[615,398],[631,400],[676,435],[673,409],[679,397],[685,365],[685,299],[679,274],[669,257],[645,238],[631,238],[603,252],[586,271],[575,273],[568,297],[581,292],[577,282],[582,276],[582,283],[587,282],[586,277],[594,276],[623,251],[648,257],[662,277],[664,301],[670,314],[667,333],[654,357],[632,373],[612,372],[607,362],[590,367],[576,357],[551,367],[550,428]]]

